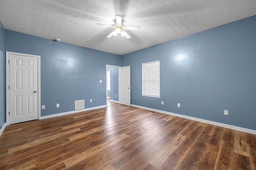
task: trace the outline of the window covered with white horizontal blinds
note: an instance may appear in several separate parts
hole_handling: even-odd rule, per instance
[[[160,98],[160,61],[142,63],[142,96]]]

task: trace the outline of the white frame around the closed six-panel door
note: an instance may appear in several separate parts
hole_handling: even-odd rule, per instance
[[[10,76],[10,65],[9,58],[10,55],[22,55],[28,57],[37,57],[38,58],[38,119],[41,119],[41,69],[40,69],[40,55],[30,55],[23,53],[14,53],[6,51],[6,125],[10,125],[10,93],[9,93],[9,76]]]

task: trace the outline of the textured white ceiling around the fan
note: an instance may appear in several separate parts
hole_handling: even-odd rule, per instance
[[[132,37],[106,38],[115,16]],[[124,55],[256,15],[256,0],[0,0],[5,29]]]

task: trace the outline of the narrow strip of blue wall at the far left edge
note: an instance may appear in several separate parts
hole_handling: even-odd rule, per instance
[[[0,21],[0,129],[6,122],[4,27]]]

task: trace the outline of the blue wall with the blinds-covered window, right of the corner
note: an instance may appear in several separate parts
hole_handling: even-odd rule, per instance
[[[142,63],[157,60],[160,98],[142,96]],[[123,55],[129,65],[131,104],[256,130],[256,16]]]

